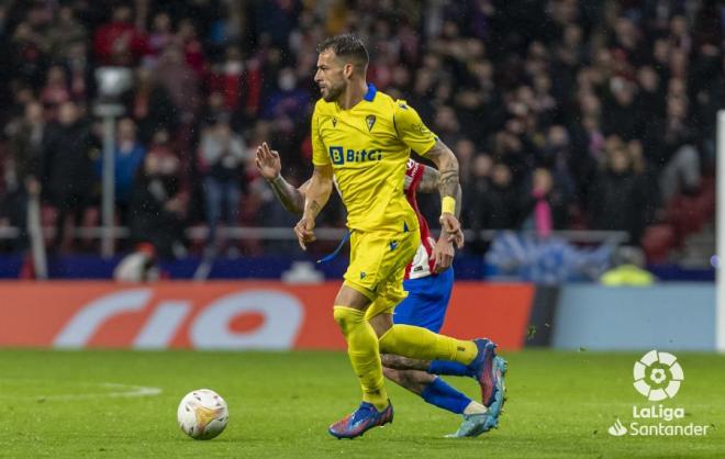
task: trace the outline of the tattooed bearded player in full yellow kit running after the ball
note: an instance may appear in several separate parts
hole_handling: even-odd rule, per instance
[[[403,192],[411,149],[437,166],[442,231],[460,247],[455,217],[458,161],[404,101],[366,82],[368,53],[353,35],[327,38],[317,48],[314,80],[322,99],[312,115],[314,171],[304,212],[294,227],[300,246],[314,240],[315,217],[336,182],[347,208],[350,262],[333,307],[360,380],[359,408],[333,424],[337,438],[355,438],[392,421],[380,352],[417,359],[490,365],[487,340],[459,340],[411,325],[393,325],[392,311],[406,296],[405,266],[420,245],[419,222]],[[490,374],[490,371],[484,371]]]

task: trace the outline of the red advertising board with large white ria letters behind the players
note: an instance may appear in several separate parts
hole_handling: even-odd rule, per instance
[[[0,287],[0,346],[344,349],[337,282],[13,283]],[[535,288],[457,282],[443,333],[524,345]]]

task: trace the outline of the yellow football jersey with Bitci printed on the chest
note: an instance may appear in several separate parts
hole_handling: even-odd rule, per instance
[[[403,192],[405,167],[411,149],[424,155],[435,142],[415,110],[372,85],[349,110],[320,99],[312,114],[312,161],[332,165],[350,229],[417,228]]]

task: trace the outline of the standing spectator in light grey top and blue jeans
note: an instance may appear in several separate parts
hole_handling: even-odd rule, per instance
[[[245,159],[245,145],[225,119],[213,120],[201,134],[199,163],[204,171],[203,190],[209,237],[207,244],[216,240],[216,225],[224,217],[228,226],[239,221],[242,202],[242,163]]]

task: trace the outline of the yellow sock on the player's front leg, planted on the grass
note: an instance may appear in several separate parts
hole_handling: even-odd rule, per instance
[[[380,348],[375,331],[365,320],[365,312],[353,307],[335,306],[335,322],[347,340],[347,355],[362,387],[362,401],[372,403],[378,411],[388,406],[383,385]]]

